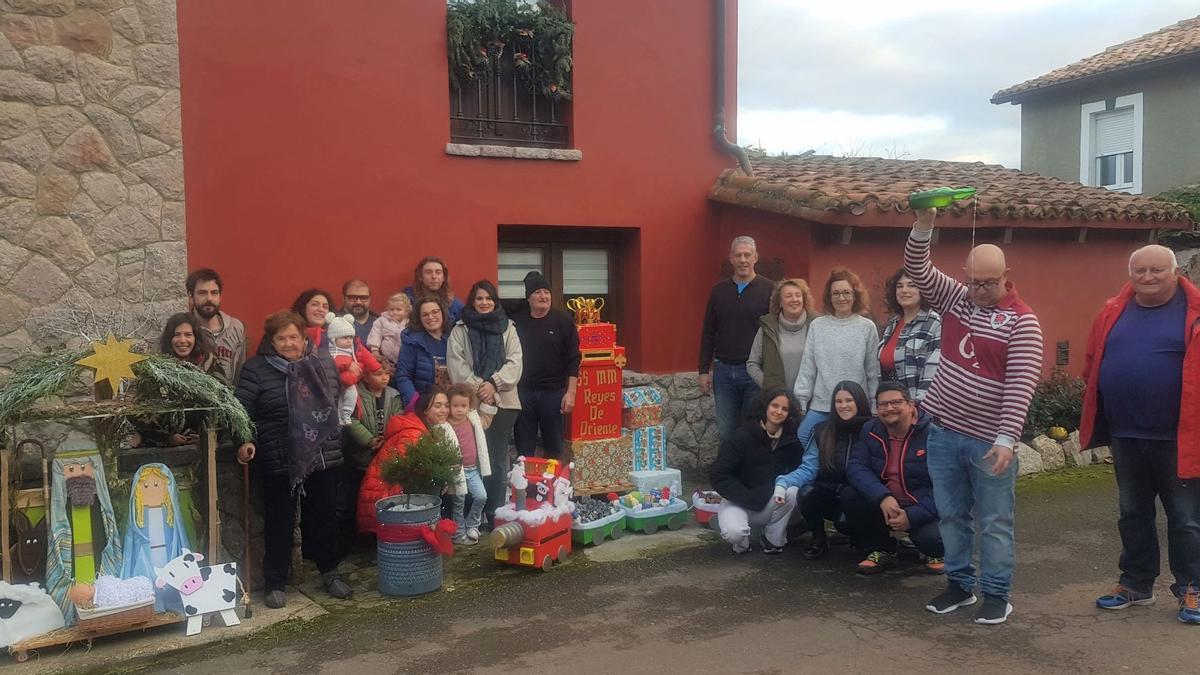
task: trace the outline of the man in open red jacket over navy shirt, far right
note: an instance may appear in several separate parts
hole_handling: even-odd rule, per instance
[[[1096,604],[1154,603],[1158,497],[1178,620],[1200,626],[1200,291],[1174,251],[1129,257],[1129,282],[1092,324],[1084,378],[1080,438],[1112,448],[1121,500],[1121,577]]]

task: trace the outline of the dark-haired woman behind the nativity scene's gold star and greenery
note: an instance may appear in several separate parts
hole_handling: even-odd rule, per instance
[[[167,325],[158,336],[158,353],[173,356],[222,383],[226,382],[226,374],[212,352],[208,333],[200,330],[193,315],[179,312],[167,319]],[[140,380],[134,383],[136,388],[143,386]],[[140,390],[138,394],[148,398],[156,395],[154,392]],[[192,444],[200,437],[205,416],[206,413],[197,411],[131,418],[134,432],[130,438],[130,447],[174,448]]]

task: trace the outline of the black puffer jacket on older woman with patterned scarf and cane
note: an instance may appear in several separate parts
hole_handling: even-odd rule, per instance
[[[311,353],[311,345],[307,347]],[[266,339],[258,346],[258,354],[241,368],[241,378],[234,395],[254,423],[254,461],[266,476],[287,476],[290,441],[288,438],[288,376],[271,365],[266,357],[276,357],[278,352]],[[332,399],[337,400],[337,368],[328,351],[318,350],[322,370],[326,375]],[[246,441],[241,438],[239,441]],[[325,442],[322,447],[325,468],[342,464],[341,435]]]

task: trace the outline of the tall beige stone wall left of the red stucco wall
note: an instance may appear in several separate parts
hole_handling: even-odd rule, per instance
[[[0,382],[67,306],[157,334],[186,264],[175,1],[0,0]]]

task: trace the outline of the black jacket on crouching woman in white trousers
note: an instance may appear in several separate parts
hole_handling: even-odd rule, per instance
[[[775,492],[775,478],[800,465],[804,446],[796,429],[784,429],[774,449],[767,431],[757,422],[740,426],[713,460],[709,480],[713,489],[746,510],[767,508]]]

